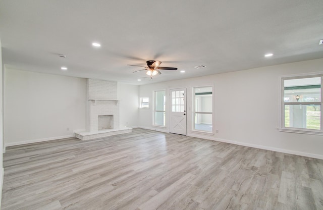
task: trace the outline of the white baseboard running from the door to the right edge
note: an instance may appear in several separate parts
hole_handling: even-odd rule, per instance
[[[282,149],[282,148],[271,147],[271,146],[263,146],[263,145],[258,145],[258,144],[250,144],[250,143],[232,141],[232,140],[227,140],[227,139],[222,139],[222,138],[214,138],[214,137],[204,136],[204,135],[201,136],[201,135],[193,134],[193,133],[190,133],[188,136],[196,137],[196,138],[204,138],[204,139],[209,139],[209,140],[213,140],[213,141],[221,141],[221,142],[226,142],[226,143],[230,143],[230,144],[237,144],[237,145],[241,145],[241,146],[248,146],[248,147],[253,147],[253,148],[258,148],[258,149],[266,149],[266,150],[278,151],[278,152],[283,152],[283,153],[288,153],[288,154],[295,154],[295,155],[306,156],[309,158],[316,158],[316,159],[323,160],[323,155],[320,155],[320,154],[313,154],[313,153],[302,152],[302,151]]]

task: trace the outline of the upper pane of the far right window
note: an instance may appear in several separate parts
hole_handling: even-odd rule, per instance
[[[284,80],[284,101],[320,102],[320,84],[320,77]]]

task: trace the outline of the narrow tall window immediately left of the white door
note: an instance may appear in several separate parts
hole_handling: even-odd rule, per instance
[[[154,91],[154,125],[165,126],[165,90]]]

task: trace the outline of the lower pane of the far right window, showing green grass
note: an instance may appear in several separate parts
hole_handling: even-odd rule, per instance
[[[320,130],[320,105],[285,105],[285,127]]]

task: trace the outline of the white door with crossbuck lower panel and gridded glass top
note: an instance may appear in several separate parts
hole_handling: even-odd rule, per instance
[[[171,89],[170,132],[186,135],[186,88]]]

